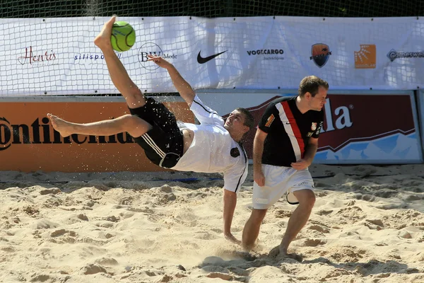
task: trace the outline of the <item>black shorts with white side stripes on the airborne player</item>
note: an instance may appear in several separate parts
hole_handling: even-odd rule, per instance
[[[146,105],[129,108],[131,115],[152,125],[141,137],[133,137],[146,153],[147,158],[164,168],[174,167],[182,156],[184,141],[175,115],[165,105],[153,98],[146,98]]]

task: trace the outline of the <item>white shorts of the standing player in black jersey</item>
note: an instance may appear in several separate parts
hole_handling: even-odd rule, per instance
[[[292,167],[262,164],[262,172],[265,175],[264,187],[259,187],[256,182],[253,183],[254,209],[269,209],[285,192],[290,204],[298,204],[298,199],[293,192],[314,189],[314,181],[307,168],[298,171]]]

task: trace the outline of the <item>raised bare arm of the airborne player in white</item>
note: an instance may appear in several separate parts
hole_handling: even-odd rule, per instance
[[[175,69],[174,65],[172,65],[170,62],[167,62],[167,60],[163,59],[162,57],[156,57],[153,55],[147,56],[148,61],[153,61],[159,67],[167,69],[168,74],[170,74],[172,79],[172,83],[174,84],[175,88],[177,88],[179,95],[184,98],[189,107],[192,106],[192,102],[196,96],[196,93],[194,93],[192,86],[190,86],[190,84],[187,83],[187,81],[179,74],[178,70]]]

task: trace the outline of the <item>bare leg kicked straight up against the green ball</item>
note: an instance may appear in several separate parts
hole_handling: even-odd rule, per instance
[[[110,36],[112,34],[112,26],[115,17],[112,16],[109,21],[103,25],[102,31],[95,37],[94,44],[102,50],[105,56],[107,69],[109,70],[110,79],[118,91],[122,93],[129,108],[139,108],[146,103],[146,100],[136,84],[131,81],[124,65],[115,54],[110,43]]]

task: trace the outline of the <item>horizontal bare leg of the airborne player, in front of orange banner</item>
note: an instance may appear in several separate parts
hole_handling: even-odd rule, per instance
[[[47,114],[47,117],[52,121],[53,128],[56,129],[62,137],[68,137],[71,134],[110,136],[120,132],[128,132],[132,137],[140,137],[151,129],[151,125],[148,122],[132,115],[124,115],[113,120],[104,120],[87,124],[68,122],[52,114]]]

